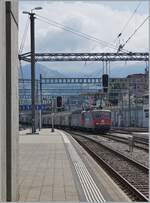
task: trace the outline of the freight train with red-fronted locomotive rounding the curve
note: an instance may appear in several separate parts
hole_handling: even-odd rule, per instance
[[[96,132],[108,132],[111,128],[110,110],[89,110],[74,112],[59,112],[54,114],[55,128],[71,128]],[[52,116],[42,116],[43,127],[51,127]]]

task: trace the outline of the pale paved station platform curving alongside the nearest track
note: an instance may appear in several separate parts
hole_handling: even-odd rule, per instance
[[[70,135],[28,132],[19,136],[18,201],[131,201]]]

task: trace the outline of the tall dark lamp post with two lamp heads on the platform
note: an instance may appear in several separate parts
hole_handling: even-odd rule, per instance
[[[31,12],[23,11],[23,14],[30,16],[30,44],[31,44],[31,99],[32,99],[32,133],[36,132],[35,126],[35,27],[34,19],[35,13],[33,10],[41,10],[42,7],[35,7],[31,9]]]

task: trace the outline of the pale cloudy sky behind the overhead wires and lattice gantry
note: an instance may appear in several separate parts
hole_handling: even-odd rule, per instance
[[[113,2],[110,4],[113,4]],[[126,2],[126,4],[129,5],[129,2]],[[135,3],[135,7],[136,5]],[[36,50],[40,52],[114,52],[116,50],[112,49],[110,44],[102,43],[102,41],[113,43],[134,10],[133,8],[123,9],[121,5],[120,8],[111,7],[109,3],[104,4],[100,1],[21,1],[19,36],[22,36],[27,19],[26,15],[21,14],[22,10],[31,10],[35,6],[43,7],[43,10],[36,12],[37,14],[100,39],[100,42],[96,43],[95,41],[76,36],[37,19]],[[137,12],[135,14],[122,34],[122,43],[128,39],[147,15],[147,13],[143,12]],[[19,41],[21,41],[21,37]],[[125,49],[138,52],[148,51],[148,21],[127,43]],[[24,51],[29,50],[30,35],[28,32]],[[83,70],[83,64],[66,62],[60,63],[60,65],[53,63],[49,66],[55,67],[56,69],[61,67],[64,70],[70,70],[72,67],[71,70],[73,71]],[[96,66],[98,68],[100,67],[98,63],[88,64],[89,69],[96,70]],[[119,64],[120,62],[115,65],[119,67]],[[114,65],[112,66],[115,67]],[[84,70],[86,71],[86,68]]]

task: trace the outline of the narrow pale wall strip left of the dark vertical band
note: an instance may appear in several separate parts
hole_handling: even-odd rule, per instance
[[[6,61],[5,59],[5,6],[0,1],[0,197],[6,199]]]

